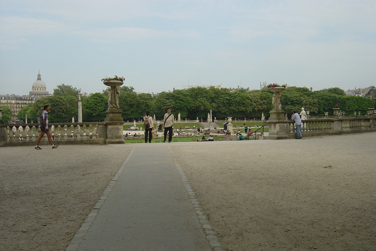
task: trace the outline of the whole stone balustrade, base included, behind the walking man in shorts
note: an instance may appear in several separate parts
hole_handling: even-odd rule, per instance
[[[49,127],[53,140],[59,141],[57,145],[105,143],[105,122],[49,123]],[[37,123],[0,124],[0,146],[35,145],[39,135]],[[49,144],[44,135],[41,145],[46,141]]]

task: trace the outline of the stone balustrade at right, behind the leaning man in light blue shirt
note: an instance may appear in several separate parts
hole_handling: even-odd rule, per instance
[[[292,120],[287,120],[288,136],[296,135],[296,126]],[[302,135],[331,135],[354,132],[376,131],[376,116],[339,116],[320,117],[320,119],[302,120]]]

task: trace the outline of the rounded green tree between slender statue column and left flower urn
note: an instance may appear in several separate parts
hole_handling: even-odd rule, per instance
[[[108,108],[108,96],[94,93],[82,100],[82,121],[94,122],[105,120],[105,111]]]

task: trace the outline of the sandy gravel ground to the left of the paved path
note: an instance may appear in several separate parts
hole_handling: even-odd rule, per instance
[[[0,148],[2,251],[64,251],[130,152],[41,147]]]

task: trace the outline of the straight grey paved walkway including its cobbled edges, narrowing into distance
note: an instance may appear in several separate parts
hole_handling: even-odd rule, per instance
[[[167,144],[133,147],[66,250],[210,251],[218,246],[169,151]]]

